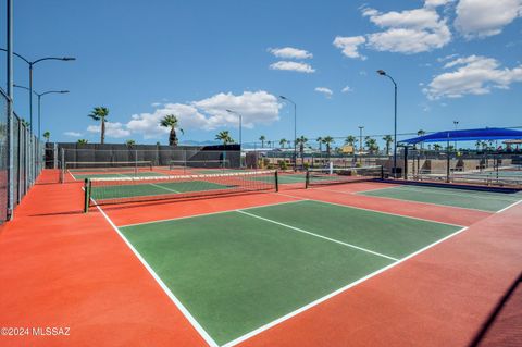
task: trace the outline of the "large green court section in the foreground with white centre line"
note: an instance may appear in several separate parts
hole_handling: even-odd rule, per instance
[[[223,345],[459,228],[299,201],[120,230]]]

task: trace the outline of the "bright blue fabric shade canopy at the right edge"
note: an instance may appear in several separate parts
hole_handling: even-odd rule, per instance
[[[445,131],[400,141],[406,145],[420,142],[474,141],[522,138],[521,131],[487,127],[484,129]]]

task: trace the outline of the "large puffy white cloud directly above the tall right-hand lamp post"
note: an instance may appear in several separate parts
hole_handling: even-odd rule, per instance
[[[366,9],[363,15],[369,16],[375,25],[386,28],[368,35],[368,46],[378,51],[420,53],[442,48],[451,40],[446,20],[433,8],[387,13]]]

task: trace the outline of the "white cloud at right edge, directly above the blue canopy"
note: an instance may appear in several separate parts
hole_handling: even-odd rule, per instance
[[[501,69],[493,58],[470,55],[450,61],[444,69],[455,69],[435,76],[423,90],[432,99],[460,98],[464,95],[485,95],[492,88],[509,89],[522,82],[522,64],[513,69]]]

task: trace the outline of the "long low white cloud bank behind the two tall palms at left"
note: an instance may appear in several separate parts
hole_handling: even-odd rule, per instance
[[[146,139],[163,138],[169,129],[160,126],[160,120],[167,114],[175,114],[179,121],[179,127],[187,132],[236,127],[239,123],[238,115],[228,113],[227,109],[243,116],[245,127],[252,128],[256,124],[271,124],[278,121],[279,108],[277,98],[264,90],[245,91],[238,96],[221,92],[189,103],[165,103],[152,113],[133,114],[130,121],[125,124],[108,122],[105,123],[107,136],[122,138],[141,135]],[[87,131],[99,133],[100,126],[91,125]]]

